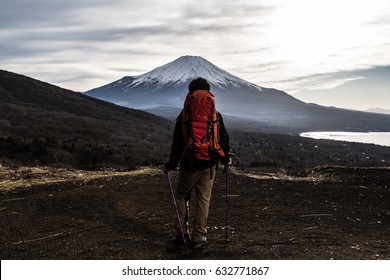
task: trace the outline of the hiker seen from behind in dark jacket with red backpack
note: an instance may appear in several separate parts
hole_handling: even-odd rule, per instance
[[[207,244],[209,203],[218,162],[231,164],[229,135],[221,114],[215,109],[208,81],[197,78],[191,81],[188,89],[184,108],[176,120],[165,172],[176,169],[180,162],[176,203],[185,233],[185,244],[189,244],[192,249],[202,249]],[[190,232],[188,215],[193,189],[196,205]],[[185,244],[178,226],[178,234],[171,245],[177,248]]]

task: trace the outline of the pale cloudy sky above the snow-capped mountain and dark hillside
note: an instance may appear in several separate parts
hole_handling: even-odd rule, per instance
[[[87,91],[182,55],[306,102],[390,109],[388,0],[1,0],[0,69]]]

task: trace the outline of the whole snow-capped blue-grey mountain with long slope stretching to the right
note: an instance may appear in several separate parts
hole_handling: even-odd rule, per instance
[[[198,56],[182,56],[140,76],[125,76],[86,95],[117,105],[174,118],[197,77],[207,79],[216,106],[235,124],[252,123],[273,131],[390,131],[390,116],[304,103],[287,93],[264,88]]]

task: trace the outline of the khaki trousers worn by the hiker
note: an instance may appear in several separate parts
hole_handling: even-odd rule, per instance
[[[206,227],[215,172],[215,167],[212,168],[212,173],[210,168],[199,171],[191,171],[180,167],[179,180],[177,182],[176,190],[176,200],[180,220],[185,233],[190,232],[188,224],[188,208],[192,189],[195,189],[196,202],[192,224],[192,238],[194,242],[207,240]]]

